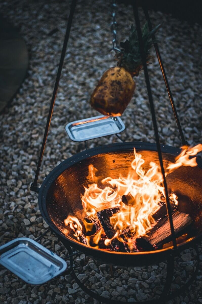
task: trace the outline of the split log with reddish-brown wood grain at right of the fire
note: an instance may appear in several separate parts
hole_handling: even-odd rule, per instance
[[[173,210],[172,212],[173,226],[175,234],[179,235],[187,226],[193,223],[190,216],[179,210]],[[146,251],[155,249],[161,249],[162,245],[171,239],[170,223],[168,215],[160,219],[150,231],[147,232],[146,236],[139,237],[136,239],[136,246]]]

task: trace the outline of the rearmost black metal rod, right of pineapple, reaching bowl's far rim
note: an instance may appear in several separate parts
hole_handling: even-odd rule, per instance
[[[148,22],[149,30],[152,31],[153,28],[152,28],[152,24],[151,24],[151,20],[150,20],[149,14],[148,14],[148,10],[146,8],[145,1],[143,1],[142,6],[143,6],[143,11],[144,11],[146,20]],[[152,35],[152,39],[155,40],[155,35],[154,34]],[[167,75],[166,75],[166,72],[165,72],[165,69],[164,69],[164,66],[163,66],[163,61],[161,59],[161,55],[160,55],[158,44],[155,42],[153,45],[154,45],[154,48],[155,48],[155,51],[156,51],[156,54],[157,54],[157,58],[158,58],[159,65],[160,65],[160,69],[161,69],[161,72],[162,72],[162,75],[163,75],[163,79],[164,79],[164,82],[165,82],[165,85],[166,85],[166,88],[167,88],[168,96],[169,96],[170,103],[171,103],[171,106],[172,106],[172,109],[173,109],[173,113],[174,113],[174,116],[175,116],[175,120],[176,120],[176,123],[177,123],[177,127],[178,127],[178,130],[179,130],[179,133],[180,133],[182,144],[183,145],[188,145],[187,140],[185,140],[185,138],[184,138],[182,127],[181,127],[181,124],[180,124],[180,120],[179,120],[179,117],[177,115],[177,110],[176,110],[176,107],[175,107],[175,104],[174,104],[173,95],[172,95],[172,92],[170,90],[170,85],[168,83]]]

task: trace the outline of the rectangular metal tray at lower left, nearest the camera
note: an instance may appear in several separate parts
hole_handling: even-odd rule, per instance
[[[61,257],[36,241],[21,237],[0,247],[0,264],[29,284],[43,284],[65,271]]]

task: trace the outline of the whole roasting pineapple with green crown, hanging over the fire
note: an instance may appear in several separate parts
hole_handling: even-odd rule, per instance
[[[147,22],[143,27],[142,38],[147,63],[150,59],[149,50],[154,42],[151,36],[159,27],[160,25],[156,26],[151,32]],[[115,55],[118,60],[117,67],[111,67],[103,74],[90,98],[91,106],[107,116],[123,114],[135,91],[133,77],[138,76],[142,69],[137,31],[133,25],[129,40],[121,42],[120,46],[121,49],[116,50]]]

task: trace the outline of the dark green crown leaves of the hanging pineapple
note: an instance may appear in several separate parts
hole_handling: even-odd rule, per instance
[[[152,40],[152,35],[157,32],[161,24],[157,25],[150,32],[148,23],[146,22],[142,29],[142,39],[144,45],[144,51],[146,60],[150,58],[149,51],[153,43],[159,42],[158,40]],[[136,28],[132,25],[130,29],[129,40],[120,42],[120,50],[116,50],[116,58],[120,58],[118,65],[124,67],[133,76],[138,76],[140,69],[142,68],[142,60],[139,48],[139,40]]]

